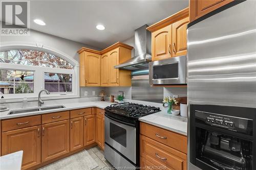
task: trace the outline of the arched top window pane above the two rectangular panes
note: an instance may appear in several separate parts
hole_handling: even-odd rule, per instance
[[[74,66],[71,63],[56,55],[26,49],[0,52],[0,62],[40,67],[74,69]]]

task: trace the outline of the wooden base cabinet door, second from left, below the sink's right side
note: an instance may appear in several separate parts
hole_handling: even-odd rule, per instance
[[[69,153],[70,120],[42,125],[42,162]]]

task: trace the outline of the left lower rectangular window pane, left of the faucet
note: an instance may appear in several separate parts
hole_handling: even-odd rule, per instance
[[[33,92],[33,71],[0,69],[0,94]]]

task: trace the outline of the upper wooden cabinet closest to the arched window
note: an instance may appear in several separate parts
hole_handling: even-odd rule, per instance
[[[80,86],[100,86],[100,53],[83,48],[80,59]]]

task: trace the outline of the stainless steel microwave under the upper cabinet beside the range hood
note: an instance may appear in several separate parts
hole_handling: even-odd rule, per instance
[[[173,57],[149,63],[151,85],[187,84],[187,56]]]

